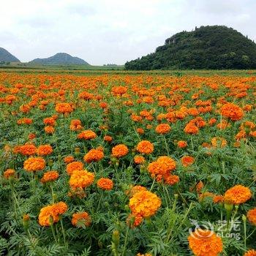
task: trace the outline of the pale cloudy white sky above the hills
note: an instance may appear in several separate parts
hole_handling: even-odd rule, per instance
[[[0,0],[0,47],[20,61],[69,53],[124,64],[195,26],[225,25],[256,42],[256,0]]]

